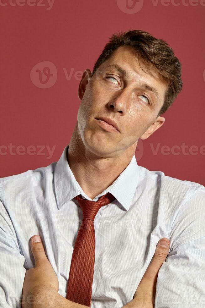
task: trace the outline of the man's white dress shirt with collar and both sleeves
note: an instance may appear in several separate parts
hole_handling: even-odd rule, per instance
[[[0,307],[21,307],[25,271],[34,267],[30,238],[39,234],[66,297],[71,256],[89,198],[67,162],[0,179]],[[108,170],[109,172],[109,170]],[[170,239],[156,286],[155,308],[205,306],[205,187],[149,171],[135,155],[107,192],[116,198],[98,211],[92,284],[95,308],[120,308],[133,299],[160,238]]]

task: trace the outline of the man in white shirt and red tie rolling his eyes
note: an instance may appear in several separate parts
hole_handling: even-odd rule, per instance
[[[93,72],[82,75],[76,126],[60,160],[0,180],[4,307],[34,267],[33,234],[42,239],[59,294],[69,300],[87,287],[75,281],[80,268],[82,281],[92,282],[95,308],[130,302],[159,239],[170,239],[155,308],[204,306],[205,187],[149,171],[134,155],[139,138],[165,123],[161,114],[181,88],[181,64],[165,41],[140,30],[111,37]],[[111,202],[95,218],[85,218],[82,204],[90,210],[106,198]],[[95,239],[93,228],[79,229],[85,222],[94,226]]]

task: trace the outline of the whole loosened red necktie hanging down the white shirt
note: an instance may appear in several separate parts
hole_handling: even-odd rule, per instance
[[[90,307],[92,280],[95,263],[95,229],[94,219],[103,205],[111,203],[115,197],[111,193],[101,196],[98,201],[82,199],[78,201],[83,212],[83,220],[78,230],[68,278],[66,299]]]

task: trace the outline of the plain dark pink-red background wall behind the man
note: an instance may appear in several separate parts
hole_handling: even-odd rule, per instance
[[[139,144],[138,164],[205,185],[205,1],[55,0],[51,7],[45,0],[2,0],[0,6],[0,177],[59,159],[77,120],[82,72],[92,71],[113,33],[131,28],[166,40],[181,61],[183,80],[165,124]],[[43,84],[35,69],[45,66],[53,76]],[[54,146],[50,157],[40,148],[46,145]]]

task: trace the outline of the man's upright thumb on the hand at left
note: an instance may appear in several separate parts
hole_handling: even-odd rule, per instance
[[[48,261],[45,255],[43,243],[39,235],[32,236],[30,245],[31,245],[31,251],[35,259],[35,267],[40,265],[40,262]]]

